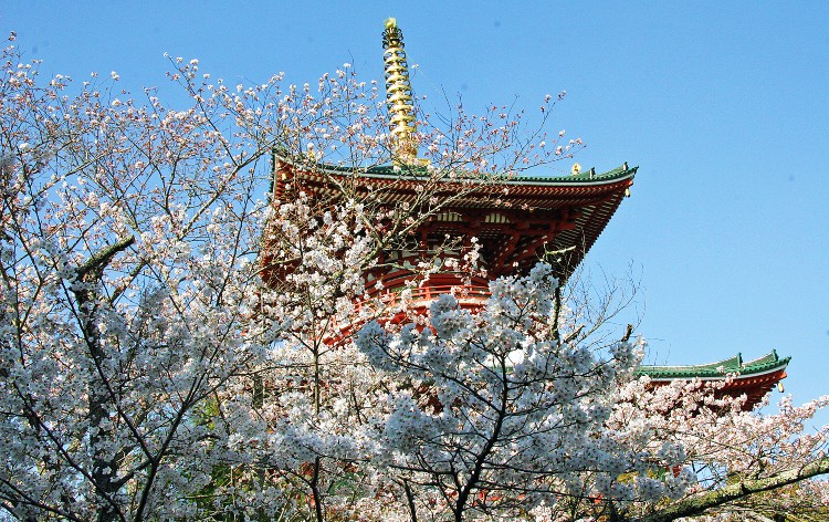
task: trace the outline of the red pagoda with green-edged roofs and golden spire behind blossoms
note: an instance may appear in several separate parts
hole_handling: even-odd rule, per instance
[[[365,191],[370,188],[389,207],[417,199],[418,184],[424,179],[417,173],[426,171],[428,161],[418,157],[413,139],[417,121],[412,90],[402,32],[393,19],[386,21],[382,45],[395,164],[360,169],[319,163],[309,167],[274,153],[274,200],[291,198],[298,190],[327,198],[335,195],[332,186],[346,181],[364,186]],[[451,203],[413,230],[403,248],[382,252],[381,268],[365,274],[367,293],[393,304],[396,291],[418,276],[414,267],[419,261],[437,259],[443,265],[457,267],[457,262],[447,261],[462,259],[473,243],[480,247],[480,273],[485,276],[439,270],[412,289],[410,309],[424,313],[433,299],[449,292],[458,296],[461,306],[480,307],[489,296],[491,280],[526,273],[539,260],[549,262],[564,282],[630,195],[636,173],[637,167],[626,163],[601,174],[574,168],[568,176],[514,176],[472,188],[465,186],[461,196],[457,196],[457,180],[437,180],[436,194],[453,195]],[[452,239],[452,248],[447,248],[447,238]],[[717,382],[721,395],[745,394],[744,409],[749,410],[775,385],[780,386],[788,362],[788,357],[780,358],[773,351],[749,362],[743,362],[738,354],[704,365],[640,366],[638,374],[649,376],[654,386],[672,380]]]

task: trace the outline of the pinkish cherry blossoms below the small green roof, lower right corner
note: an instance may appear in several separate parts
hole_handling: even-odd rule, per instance
[[[779,411],[766,416],[743,411],[745,397],[717,398],[718,386],[693,380],[651,388],[639,379],[621,389],[608,426],[636,427],[640,440],[646,434],[675,440],[699,479],[670,505],[640,507],[638,520],[825,518],[829,484],[804,481],[829,472],[829,427],[809,430],[829,396],[800,407],[784,397]]]

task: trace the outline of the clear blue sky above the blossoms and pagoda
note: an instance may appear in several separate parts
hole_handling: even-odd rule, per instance
[[[166,83],[165,52],[229,82],[379,80],[393,15],[419,94],[566,90],[553,126],[588,144],[577,160],[640,167],[587,265],[634,267],[648,361],[777,348],[797,403],[829,393],[829,2],[580,3],[0,1],[0,31],[44,73],[137,92]]]

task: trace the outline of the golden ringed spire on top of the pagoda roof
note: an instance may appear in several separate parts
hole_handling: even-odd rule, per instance
[[[422,165],[418,159],[418,147],[413,134],[418,130],[412,104],[409,65],[403,50],[403,32],[397,20],[389,18],[382,32],[382,60],[386,64],[386,104],[389,107],[389,124],[397,158],[402,165]]]

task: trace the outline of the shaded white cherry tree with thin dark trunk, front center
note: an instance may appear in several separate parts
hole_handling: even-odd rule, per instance
[[[607,428],[636,346],[617,342],[602,354],[562,341],[550,272],[539,264],[492,283],[478,314],[445,295],[424,328],[389,334],[375,322],[358,334],[370,364],[407,384],[375,438],[412,518],[427,499],[461,521],[558,510],[570,498],[678,498],[693,482],[690,469],[663,472],[682,462],[681,446],[633,451],[627,434]]]

